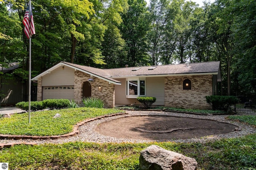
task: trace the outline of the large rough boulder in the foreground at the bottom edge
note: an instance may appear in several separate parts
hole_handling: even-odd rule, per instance
[[[142,170],[196,170],[197,162],[157,145],[151,145],[140,152],[140,168]]]

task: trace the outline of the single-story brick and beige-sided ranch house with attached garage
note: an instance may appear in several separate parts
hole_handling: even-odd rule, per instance
[[[37,100],[100,98],[106,107],[140,103],[138,96],[156,97],[153,105],[211,109],[205,96],[217,94],[220,62],[100,69],[60,62],[38,76]]]

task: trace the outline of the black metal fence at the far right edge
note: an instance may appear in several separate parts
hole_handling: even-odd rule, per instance
[[[251,114],[256,113],[256,96],[237,96],[238,104],[234,106],[237,113]]]

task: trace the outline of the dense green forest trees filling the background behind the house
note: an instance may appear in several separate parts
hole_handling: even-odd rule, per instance
[[[0,0],[0,64],[28,80],[28,0]],[[118,68],[220,61],[223,95],[256,94],[256,1],[33,0],[32,76],[60,61]]]

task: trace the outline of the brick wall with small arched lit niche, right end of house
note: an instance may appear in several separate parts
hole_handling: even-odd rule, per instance
[[[183,81],[191,81],[191,90],[183,90]],[[212,76],[165,77],[165,106],[185,109],[212,109],[205,96],[212,95]]]

